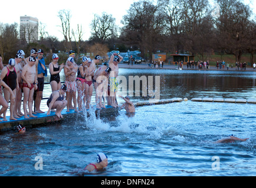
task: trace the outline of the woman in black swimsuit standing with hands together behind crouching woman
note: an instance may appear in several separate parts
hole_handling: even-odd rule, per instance
[[[64,68],[64,63],[58,66],[58,55],[52,55],[52,62],[49,64],[49,70],[51,73],[50,85],[52,92],[61,88],[60,72]]]

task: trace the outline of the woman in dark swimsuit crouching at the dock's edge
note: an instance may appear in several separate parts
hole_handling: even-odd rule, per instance
[[[67,86],[62,85],[60,90],[55,90],[51,93],[50,98],[47,100],[48,112],[47,116],[50,115],[51,109],[56,109],[55,115],[58,118],[62,118],[61,111],[67,106],[67,100],[65,100],[65,92],[67,91]]]

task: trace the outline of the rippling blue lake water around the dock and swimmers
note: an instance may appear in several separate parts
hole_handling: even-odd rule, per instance
[[[256,99],[255,72],[120,69],[119,75],[160,76],[160,99]],[[120,110],[105,119],[28,127],[24,135],[2,133],[0,176],[255,176],[255,110],[255,104],[189,100],[140,106],[134,117]],[[214,143],[231,134],[249,140]],[[98,152],[109,157],[106,170],[83,172]]]

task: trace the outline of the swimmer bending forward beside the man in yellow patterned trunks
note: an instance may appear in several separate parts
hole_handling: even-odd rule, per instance
[[[96,70],[93,77],[93,85],[96,92],[95,100],[96,100],[96,108],[101,109],[105,108],[104,105],[102,105],[101,99],[104,95],[104,83],[106,83],[106,89],[107,89],[107,83],[109,80],[111,68],[109,68],[106,65],[101,66],[99,69]],[[101,85],[101,86],[100,86]],[[99,87],[100,86],[100,87]],[[99,88],[98,88],[99,87]],[[106,90],[107,92],[107,90]]]

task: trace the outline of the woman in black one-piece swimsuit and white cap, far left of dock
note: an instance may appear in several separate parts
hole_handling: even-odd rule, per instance
[[[4,80],[4,82],[11,88],[12,92],[15,95],[15,98],[11,98],[10,100],[10,95],[11,93],[9,92],[9,90],[7,88],[4,88],[4,96],[5,96],[5,100],[7,102],[11,102],[10,104],[10,118],[9,120],[17,120],[14,117],[14,110],[15,110],[15,99],[16,99],[16,91],[19,90],[19,84],[18,84],[18,76],[17,76],[17,72],[15,69],[15,59],[9,59],[9,63],[8,65],[6,65],[1,72],[1,80]],[[6,121],[6,110],[4,112],[4,120]]]

